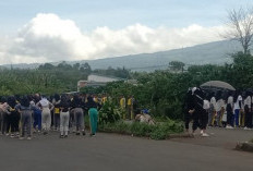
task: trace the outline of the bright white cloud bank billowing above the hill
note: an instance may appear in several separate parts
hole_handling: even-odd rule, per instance
[[[5,46],[0,46],[0,64],[98,59],[177,49],[220,40],[222,30],[222,26],[196,24],[185,28],[150,28],[135,24],[118,30],[105,26],[84,33],[71,20],[37,14],[15,37],[7,38]]]

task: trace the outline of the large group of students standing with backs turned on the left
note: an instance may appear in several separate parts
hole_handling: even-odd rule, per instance
[[[49,133],[51,127],[68,137],[75,125],[76,135],[85,135],[84,115],[88,113],[91,136],[95,136],[100,105],[92,95],[58,95],[51,98],[39,94],[0,98],[0,134],[32,139],[33,130]]]

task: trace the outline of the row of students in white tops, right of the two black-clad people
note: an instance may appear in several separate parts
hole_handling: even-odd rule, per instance
[[[253,120],[253,94],[245,91],[218,90],[209,96],[208,125],[226,129],[243,127],[252,129]]]

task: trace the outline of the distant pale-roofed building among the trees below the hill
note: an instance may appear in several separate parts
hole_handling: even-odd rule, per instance
[[[105,86],[107,83],[118,82],[118,81],[124,81],[124,78],[91,74],[88,75],[87,81],[77,82],[77,91],[80,91],[81,88],[86,86],[99,87],[99,86]]]

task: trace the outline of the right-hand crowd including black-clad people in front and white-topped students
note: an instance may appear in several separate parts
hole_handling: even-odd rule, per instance
[[[252,129],[253,93],[216,90],[206,91],[200,87],[190,88],[184,102],[185,130],[192,121],[192,133],[201,129],[202,136],[208,136],[207,126],[226,129]]]

